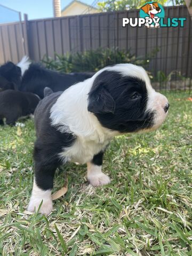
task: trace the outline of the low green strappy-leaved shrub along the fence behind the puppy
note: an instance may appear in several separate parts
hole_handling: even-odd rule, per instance
[[[146,66],[149,63],[149,58],[149,56],[147,58],[136,58],[130,51],[107,48],[81,53],[67,53],[65,55],[55,54],[55,60],[45,56],[42,61],[49,69],[70,73],[98,71],[103,67],[116,63],[133,63]]]

